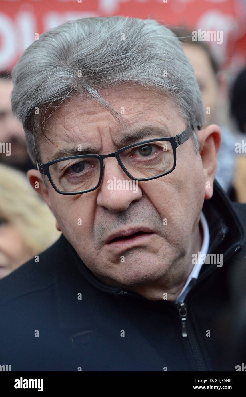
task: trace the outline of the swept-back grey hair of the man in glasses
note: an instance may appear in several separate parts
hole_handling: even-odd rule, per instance
[[[90,97],[120,120],[99,91],[125,82],[169,94],[188,125],[204,121],[200,89],[182,45],[152,19],[112,16],[63,23],[23,52],[12,78],[12,110],[23,124],[33,162],[42,161],[38,142],[43,127],[63,101]],[[195,132],[192,139],[198,152]]]

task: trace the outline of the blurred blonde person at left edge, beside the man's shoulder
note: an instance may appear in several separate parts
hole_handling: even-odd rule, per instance
[[[1,279],[52,245],[60,233],[52,213],[25,175],[3,164],[0,197]]]

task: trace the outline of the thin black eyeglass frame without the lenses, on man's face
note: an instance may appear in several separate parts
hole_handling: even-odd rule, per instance
[[[118,150],[116,150],[116,152],[114,153],[110,153],[110,154],[80,154],[78,156],[69,156],[69,157],[64,157],[64,158],[59,158],[57,160],[52,160],[52,161],[48,161],[47,163],[39,163],[38,160],[36,159],[36,163],[38,166],[38,170],[41,174],[43,175],[47,175],[52,187],[55,189],[55,191],[57,193],[60,193],[62,195],[79,195],[82,193],[88,193],[91,192],[93,190],[96,190],[99,188],[99,186],[101,185],[102,179],[103,179],[103,169],[104,169],[104,164],[103,164],[103,160],[105,158],[108,157],[115,157],[116,160],[118,161],[119,166],[122,168],[122,170],[124,171],[124,173],[126,173],[126,175],[133,180],[136,181],[149,181],[151,179],[156,179],[156,178],[160,178],[164,175],[169,174],[170,172],[172,172],[175,167],[176,167],[176,148],[180,145],[182,145],[184,142],[186,142],[189,138],[190,138],[190,134],[192,133],[193,130],[195,130],[195,128],[198,128],[199,130],[201,129],[201,125],[199,123],[198,120],[195,120],[188,128],[186,128],[184,131],[182,131],[181,133],[175,135],[174,137],[165,137],[165,138],[152,138],[152,139],[148,139],[147,141],[141,141],[138,143],[133,143],[132,145],[128,145],[128,146],[124,146],[123,148],[120,148]],[[161,173],[159,175],[155,175],[155,176],[151,176],[148,178],[134,178],[132,177],[132,175],[126,170],[124,164],[122,163],[122,161],[120,160],[120,153],[123,152],[126,149],[130,149],[134,146],[139,146],[139,145],[144,145],[145,143],[150,143],[150,142],[155,142],[155,141],[169,141],[172,145],[172,150],[173,150],[173,155],[174,155],[174,163],[173,163],[173,167],[171,168],[171,170],[166,171],[164,173]],[[74,158],[98,158],[99,163],[100,163],[100,175],[99,175],[99,182],[97,183],[97,185],[95,187],[93,187],[92,189],[87,189],[87,190],[83,190],[83,191],[79,191],[79,192],[62,192],[60,191],[56,185],[54,184],[52,177],[50,175],[50,170],[49,167],[52,164],[58,163],[60,161],[64,161],[64,160],[72,160]]]

